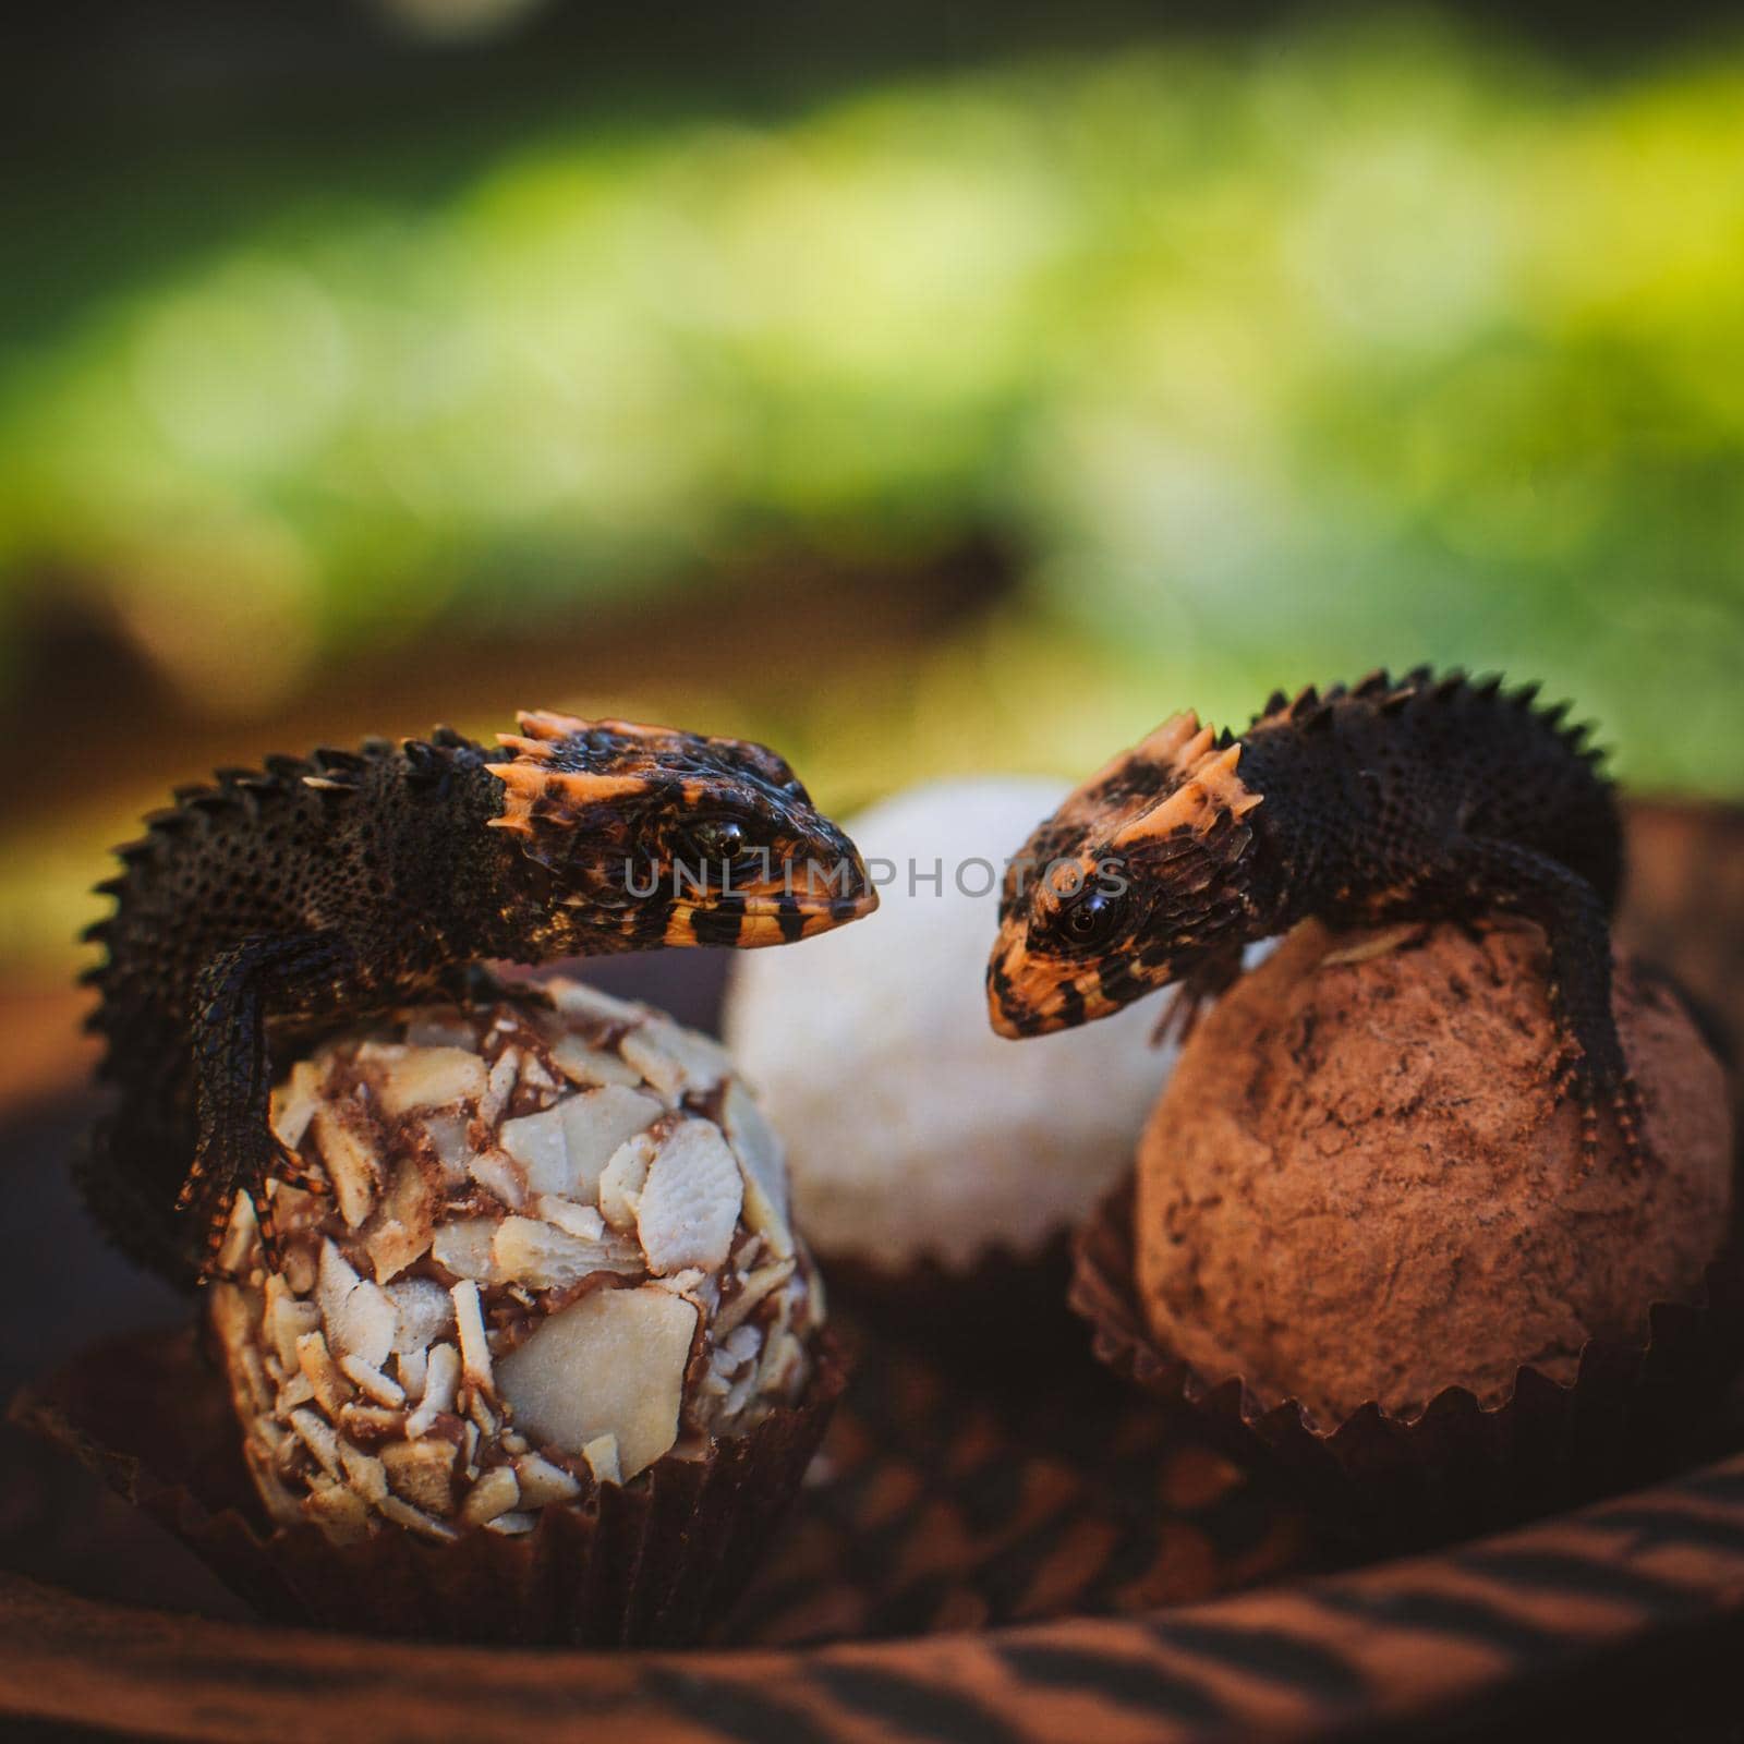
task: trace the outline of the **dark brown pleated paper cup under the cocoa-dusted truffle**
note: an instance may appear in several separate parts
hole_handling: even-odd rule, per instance
[[[1573,1383],[1521,1366],[1498,1406],[1463,1386],[1421,1413],[1374,1400],[1318,1428],[1296,1399],[1268,1404],[1238,1374],[1203,1374],[1156,1341],[1134,1273],[1134,1181],[1073,1245],[1071,1305],[1095,1355],[1189,1416],[1217,1446],[1289,1484],[1331,1531],[1416,1549],[1570,1507],[1700,1458],[1744,1362],[1744,1266],[1707,1268],[1700,1301],[1653,1303],[1638,1343],[1589,1339]]]

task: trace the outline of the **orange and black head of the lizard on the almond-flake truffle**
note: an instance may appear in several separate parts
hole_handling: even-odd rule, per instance
[[[748,739],[521,713],[490,825],[546,947],[780,945],[877,907],[855,844]],[[602,937],[603,935],[603,937]]]

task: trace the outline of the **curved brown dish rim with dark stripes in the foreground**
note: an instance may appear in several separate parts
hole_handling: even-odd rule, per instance
[[[521,1744],[1667,1735],[1744,1645],[1744,1456],[1453,1557],[1184,1606],[800,1653],[419,1648],[0,1577],[0,1702],[127,1735]],[[1636,1704],[1622,1666],[1641,1672]],[[1554,1679],[1554,1706],[1535,1700]],[[1606,1721],[1624,1730],[1611,1732]],[[1652,1730],[1645,1730],[1652,1727]],[[1517,1735],[1517,1734],[1509,1734]]]

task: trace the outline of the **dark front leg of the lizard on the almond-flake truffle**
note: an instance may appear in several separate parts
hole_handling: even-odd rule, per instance
[[[211,1278],[235,1195],[248,1193],[262,1243],[274,1247],[267,1179],[298,1179],[270,1125],[272,1067],[267,1013],[296,1013],[331,999],[351,952],[337,933],[249,938],[218,952],[195,980],[190,1032],[197,1137],[176,1210],[194,1219],[201,1278]]]

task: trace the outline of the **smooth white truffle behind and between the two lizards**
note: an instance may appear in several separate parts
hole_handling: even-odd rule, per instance
[[[987,1024],[1005,856],[1062,792],[952,781],[863,813],[851,828],[884,874],[877,924],[734,959],[727,1041],[787,1139],[827,1263],[900,1280],[1032,1259],[1130,1165],[1174,1059],[1151,1045],[1163,1006],[1022,1046]]]

